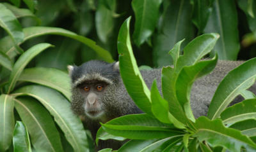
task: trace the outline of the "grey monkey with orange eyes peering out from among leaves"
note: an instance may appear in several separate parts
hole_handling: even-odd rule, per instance
[[[219,60],[210,74],[195,81],[190,97],[195,118],[207,114],[211,99],[221,80],[242,63],[243,61]],[[156,79],[157,88],[161,92],[161,69],[140,72],[148,88]],[[68,73],[71,78],[71,109],[75,114],[84,117],[84,123],[94,140],[100,127],[99,122],[106,123],[125,114],[143,113],[125,89],[119,72],[119,62],[109,64],[100,60],[90,60],[81,66],[68,66]],[[256,90],[255,85],[253,87],[253,90]],[[120,146],[122,143],[118,141],[100,141],[96,149],[118,149]]]

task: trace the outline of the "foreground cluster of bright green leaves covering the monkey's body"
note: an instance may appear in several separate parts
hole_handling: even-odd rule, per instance
[[[254,122],[256,116],[256,99],[227,106],[255,82],[256,58],[228,73],[212,98],[208,116],[195,119],[189,102],[191,86],[196,78],[214,69],[217,56],[209,60],[200,59],[211,52],[219,35],[198,36],[185,46],[183,55],[179,55],[182,41],[174,46],[170,53],[174,66],[162,69],[161,97],[156,81],[151,91],[143,85],[145,82],[132,53],[130,20],[125,20],[118,35],[120,74],[129,95],[145,114],[129,114],[101,124],[97,140],[106,140],[106,134],[112,135],[107,139],[131,139],[118,151],[214,151],[217,147],[237,152],[241,149],[255,151],[256,143],[251,139],[255,136],[255,125],[250,122]],[[134,90],[134,85],[137,90]],[[147,100],[142,100],[142,97]],[[246,123],[242,125],[243,121]]]

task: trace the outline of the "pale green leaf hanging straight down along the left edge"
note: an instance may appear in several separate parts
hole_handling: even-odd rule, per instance
[[[6,151],[12,143],[14,102],[10,95],[0,95],[0,151]]]

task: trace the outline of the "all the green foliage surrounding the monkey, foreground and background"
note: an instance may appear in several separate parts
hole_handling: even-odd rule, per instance
[[[93,151],[90,133],[70,111],[66,69],[91,59],[120,60],[124,83],[138,86],[127,90],[145,112],[102,124],[97,140],[131,139],[119,151],[255,151],[256,100],[246,90],[256,76],[255,6],[253,0],[1,1],[0,151]],[[168,66],[163,97],[156,83],[145,87],[133,53],[138,65]],[[195,119],[189,88],[218,59],[251,60],[223,79],[207,117]],[[241,93],[245,100],[227,108]]]

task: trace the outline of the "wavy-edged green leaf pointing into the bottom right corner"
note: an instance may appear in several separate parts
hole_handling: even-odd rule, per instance
[[[241,147],[247,151],[255,151],[256,144],[239,130],[233,128],[225,128],[220,119],[209,120],[205,116],[201,116],[196,120],[197,128],[196,137],[200,142],[206,141],[211,146],[222,146],[230,151],[239,152]]]

